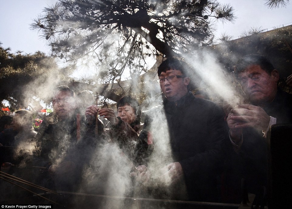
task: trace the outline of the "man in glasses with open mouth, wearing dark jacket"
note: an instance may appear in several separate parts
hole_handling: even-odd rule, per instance
[[[159,66],[163,105],[149,110],[145,118],[140,155],[147,157],[141,162],[147,162],[148,168],[138,166],[136,178],[142,185],[158,185],[153,186],[158,198],[217,202],[221,143],[228,133],[219,106],[189,91],[190,71],[177,57]],[[150,147],[151,154],[145,152]]]

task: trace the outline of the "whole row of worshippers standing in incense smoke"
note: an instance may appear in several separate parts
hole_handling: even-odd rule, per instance
[[[292,94],[277,87],[279,73],[265,56],[247,55],[234,71],[247,100],[223,110],[192,94],[191,69],[178,57],[160,64],[162,103],[143,121],[130,96],[113,110],[92,104],[88,92],[77,99],[68,86],[56,87],[53,113],[38,132],[27,110],[1,118],[0,143],[13,147],[2,153],[11,164],[2,171],[56,191],[237,204],[244,179],[267,204],[266,138],[272,125],[292,123]],[[9,187],[1,180],[1,198],[19,197]]]

